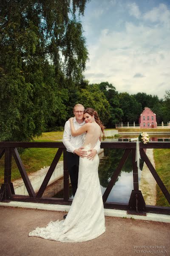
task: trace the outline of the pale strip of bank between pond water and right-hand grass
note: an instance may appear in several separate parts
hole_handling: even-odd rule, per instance
[[[153,167],[155,168],[153,148],[147,148],[146,154]],[[142,195],[146,204],[156,205],[156,180],[154,179],[145,162],[142,169],[139,190],[142,191]]]

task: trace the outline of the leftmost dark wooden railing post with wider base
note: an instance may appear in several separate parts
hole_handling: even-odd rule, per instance
[[[12,154],[11,148],[5,150],[5,166],[4,166],[4,183],[0,188],[0,201],[12,200],[14,194],[13,183],[11,183],[11,162]]]

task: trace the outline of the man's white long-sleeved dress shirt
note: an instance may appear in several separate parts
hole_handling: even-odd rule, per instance
[[[81,124],[79,124],[76,120],[76,117],[74,117],[73,119],[73,124],[74,124],[74,128],[75,130],[79,129],[82,125],[85,124],[85,121],[82,122]],[[63,144],[65,145],[65,147],[67,148],[68,152],[74,153],[75,149],[78,149],[82,146],[83,143],[83,137],[85,136],[85,134],[81,134],[79,136],[73,137],[71,135],[71,128],[70,128],[70,121],[67,121],[65,123],[65,127],[64,127],[64,134],[63,134]],[[94,149],[96,149],[97,153],[99,153],[100,150],[100,140],[97,141]]]

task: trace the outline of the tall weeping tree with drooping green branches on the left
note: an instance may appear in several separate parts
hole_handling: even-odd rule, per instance
[[[88,51],[79,17],[88,0],[0,1],[0,140],[28,141],[65,119],[68,88]]]

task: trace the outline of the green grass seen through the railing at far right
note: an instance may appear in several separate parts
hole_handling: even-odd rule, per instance
[[[170,192],[170,148],[154,148],[153,149],[156,172],[162,182]],[[158,184],[156,184],[156,205],[169,207],[167,199],[161,192]]]

